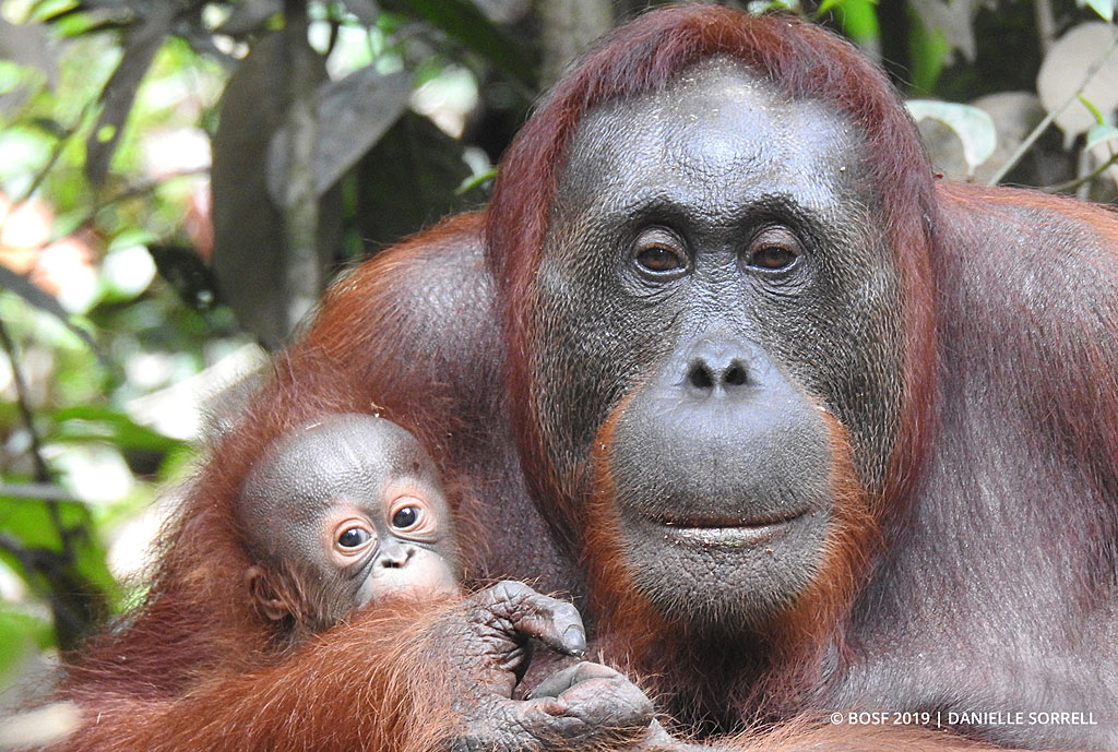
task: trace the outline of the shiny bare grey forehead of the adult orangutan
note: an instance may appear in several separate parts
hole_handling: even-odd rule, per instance
[[[711,209],[761,193],[827,206],[856,185],[861,145],[833,105],[793,98],[742,64],[712,58],[659,91],[591,110],[558,198],[594,202],[609,187]]]

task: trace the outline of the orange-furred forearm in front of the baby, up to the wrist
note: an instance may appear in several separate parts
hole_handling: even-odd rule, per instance
[[[423,625],[449,607],[379,605],[291,653],[245,646],[199,666],[195,679],[171,696],[139,698],[77,686],[73,697],[88,699],[96,714],[57,749],[445,749],[457,722],[451,702],[461,689],[447,683],[437,638]],[[421,705],[414,704],[417,697]]]

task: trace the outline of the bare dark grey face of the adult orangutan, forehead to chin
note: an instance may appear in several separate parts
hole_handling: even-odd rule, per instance
[[[626,569],[671,618],[749,628],[812,581],[833,513],[824,411],[881,488],[903,339],[862,146],[831,106],[720,58],[576,134],[537,278],[532,400],[576,503],[613,420]]]

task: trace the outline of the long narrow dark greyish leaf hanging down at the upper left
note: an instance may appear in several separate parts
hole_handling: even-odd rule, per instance
[[[85,174],[94,185],[105,182],[140,82],[155,59],[178,11],[177,2],[155,3],[151,15],[129,32],[124,57],[101,93],[101,116],[85,145]]]

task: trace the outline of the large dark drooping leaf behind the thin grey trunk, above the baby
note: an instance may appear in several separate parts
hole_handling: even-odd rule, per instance
[[[218,291],[241,326],[268,349],[285,344],[286,254],[283,215],[268,197],[267,160],[273,135],[284,122],[286,89],[282,34],[260,39],[229,79],[214,135],[214,256]],[[325,78],[320,67],[320,79]],[[319,207],[319,263],[333,257],[341,228],[340,193]]]

